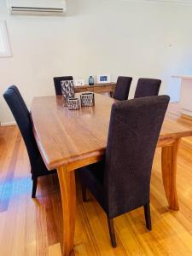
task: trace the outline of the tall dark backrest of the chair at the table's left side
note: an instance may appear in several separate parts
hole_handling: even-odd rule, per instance
[[[29,110],[26,108],[26,103],[15,85],[10,86],[8,90],[3,93],[3,97],[8,103],[9,108],[15,117],[15,121],[19,126],[20,133],[26,144],[26,150],[31,166],[33,166],[34,161],[37,160],[40,153],[32,133],[32,121]]]

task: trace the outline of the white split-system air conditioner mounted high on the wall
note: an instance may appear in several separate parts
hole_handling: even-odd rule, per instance
[[[7,0],[11,15],[63,15],[66,0]]]

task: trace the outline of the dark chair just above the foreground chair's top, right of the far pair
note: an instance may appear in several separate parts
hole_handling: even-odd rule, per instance
[[[160,79],[138,79],[134,98],[158,96],[160,84]]]

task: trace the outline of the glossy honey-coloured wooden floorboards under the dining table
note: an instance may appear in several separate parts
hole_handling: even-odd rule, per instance
[[[192,138],[183,139],[177,166],[180,211],[167,208],[158,149],[151,179],[153,230],[146,230],[142,208],[115,218],[115,249],[110,244],[105,213],[91,195],[90,201],[82,202],[78,182],[72,255],[192,255]],[[30,165],[20,132],[16,126],[0,127],[1,256],[61,255],[57,176],[39,178],[36,200],[32,200],[31,191]]]

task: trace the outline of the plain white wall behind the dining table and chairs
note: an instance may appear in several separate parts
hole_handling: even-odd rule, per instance
[[[28,107],[33,96],[54,95],[53,77],[111,73],[163,80],[161,93],[178,100],[172,74],[192,73],[192,6],[125,0],[68,0],[66,17],[8,15],[12,58],[0,59],[0,120],[13,121],[2,94],[16,84]]]

